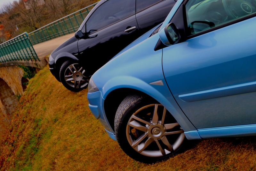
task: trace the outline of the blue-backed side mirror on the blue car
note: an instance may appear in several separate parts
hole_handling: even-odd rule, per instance
[[[165,26],[159,33],[160,40],[164,43],[164,45],[174,45],[179,42],[180,34],[178,29],[173,23]]]

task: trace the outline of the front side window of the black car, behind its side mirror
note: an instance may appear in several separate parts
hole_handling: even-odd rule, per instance
[[[88,19],[85,24],[86,33],[100,30],[133,14],[135,14],[135,0],[108,0]]]

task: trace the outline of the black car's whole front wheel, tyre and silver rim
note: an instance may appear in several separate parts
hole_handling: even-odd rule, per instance
[[[70,91],[79,92],[88,86],[84,68],[77,61],[67,60],[60,67],[60,81]]]

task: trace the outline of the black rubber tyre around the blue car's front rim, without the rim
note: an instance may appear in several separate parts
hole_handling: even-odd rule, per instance
[[[182,152],[184,149],[182,148],[183,146],[182,144],[184,144],[184,142],[186,141],[186,138],[185,138],[185,140],[177,150],[160,157],[149,157],[149,156],[138,153],[132,148],[132,146],[129,144],[127,140],[127,135],[126,135],[127,123],[129,122],[129,119],[133,115],[133,112],[139,110],[141,107],[149,104],[157,104],[157,103],[159,102],[157,102],[153,98],[144,94],[128,95],[120,103],[115,115],[115,123],[114,123],[115,135],[116,135],[116,140],[119,146],[132,159],[143,162],[143,163],[152,164],[157,161],[163,161]]]

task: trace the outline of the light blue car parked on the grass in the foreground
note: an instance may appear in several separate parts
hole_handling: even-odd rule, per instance
[[[178,0],[92,76],[89,107],[131,158],[256,135],[256,0]]]

